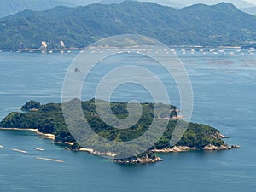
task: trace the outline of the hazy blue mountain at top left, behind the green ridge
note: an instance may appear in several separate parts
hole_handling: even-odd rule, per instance
[[[65,0],[0,0],[0,17],[13,15],[25,9],[46,10],[58,5],[75,6],[71,1]]]

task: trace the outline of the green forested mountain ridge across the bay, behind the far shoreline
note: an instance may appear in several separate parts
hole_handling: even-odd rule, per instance
[[[25,11],[0,20],[0,48],[86,47],[108,36],[135,33],[164,44],[247,45],[256,42],[256,16],[230,3],[173,9],[125,1],[86,7]]]

